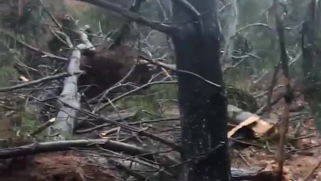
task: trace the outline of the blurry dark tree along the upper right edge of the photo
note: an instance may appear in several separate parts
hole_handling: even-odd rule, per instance
[[[321,132],[321,1],[312,0],[307,11],[307,19],[302,24],[301,49],[302,49],[302,70],[304,74],[305,98],[310,104],[313,113],[313,120],[316,129]]]

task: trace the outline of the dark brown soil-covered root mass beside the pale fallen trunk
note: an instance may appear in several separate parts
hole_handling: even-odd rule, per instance
[[[81,69],[86,73],[79,77],[79,85],[87,85],[84,94],[88,98],[97,96],[123,79],[133,66],[134,70],[123,83],[132,82],[137,86],[147,83],[156,70],[153,71],[147,64],[136,63],[137,56],[137,52],[127,46],[119,46],[114,50],[97,47],[94,55],[84,56]],[[122,91],[126,90],[113,90],[117,93]]]

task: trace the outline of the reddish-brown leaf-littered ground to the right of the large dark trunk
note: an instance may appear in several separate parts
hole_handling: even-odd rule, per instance
[[[321,137],[313,127],[312,120],[305,121],[300,136],[297,140],[291,140],[292,146],[288,148],[284,164],[288,180],[321,180]],[[290,128],[289,134],[293,133],[294,129]],[[277,170],[277,144],[270,141],[266,141],[265,145],[248,144],[250,146],[247,148],[233,151],[232,166]]]

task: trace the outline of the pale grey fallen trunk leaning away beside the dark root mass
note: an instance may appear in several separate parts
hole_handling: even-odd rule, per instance
[[[66,19],[66,21],[70,22],[70,24],[74,25],[75,22],[71,19]],[[68,27],[67,27],[68,28]],[[77,118],[77,110],[73,108],[80,108],[80,95],[78,94],[78,75],[75,72],[80,71],[80,61],[81,61],[81,51],[87,49],[89,51],[95,51],[95,47],[88,40],[86,33],[81,30],[76,31],[80,36],[80,40],[82,43],[78,44],[75,48],[71,42],[70,35],[66,35],[61,32],[63,36],[65,36],[65,40],[72,54],[69,59],[68,65],[68,73],[72,74],[72,76],[66,77],[64,79],[64,86],[60,98],[58,100],[61,103],[60,111],[57,114],[57,118],[55,124],[49,127],[48,132],[49,135],[57,135],[54,137],[58,140],[65,140],[66,138],[70,138],[73,134],[75,127],[75,120]]]

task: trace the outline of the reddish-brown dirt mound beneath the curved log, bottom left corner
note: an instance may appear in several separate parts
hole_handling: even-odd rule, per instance
[[[14,160],[3,170],[0,181],[113,181],[108,170],[73,151],[41,153],[24,161]]]

